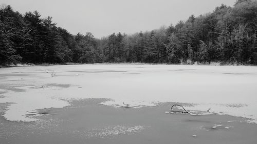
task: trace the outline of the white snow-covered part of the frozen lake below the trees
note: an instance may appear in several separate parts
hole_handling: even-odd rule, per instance
[[[51,76],[51,75],[55,76]],[[0,69],[4,117],[36,120],[37,109],[69,106],[69,99],[107,98],[102,105],[185,103],[195,114],[228,114],[257,122],[257,67],[67,65]],[[125,104],[125,105],[124,105]]]

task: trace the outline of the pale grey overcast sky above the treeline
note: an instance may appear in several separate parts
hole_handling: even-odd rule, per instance
[[[212,12],[216,6],[233,6],[236,0],[0,0],[15,11],[37,10],[52,16],[57,26],[95,37],[113,32],[135,33],[176,24],[191,14]]]

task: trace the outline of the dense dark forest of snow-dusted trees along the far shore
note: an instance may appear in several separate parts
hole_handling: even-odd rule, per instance
[[[169,63],[257,65],[257,2],[237,0],[176,25],[101,39],[70,34],[38,11],[0,9],[0,65],[17,63]]]

